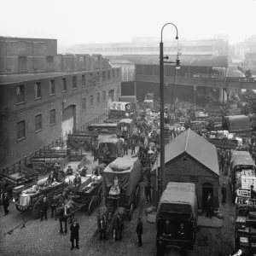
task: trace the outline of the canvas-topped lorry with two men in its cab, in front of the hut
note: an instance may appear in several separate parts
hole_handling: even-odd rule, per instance
[[[194,183],[167,183],[155,215],[157,255],[166,247],[193,250],[197,233],[198,195]]]

